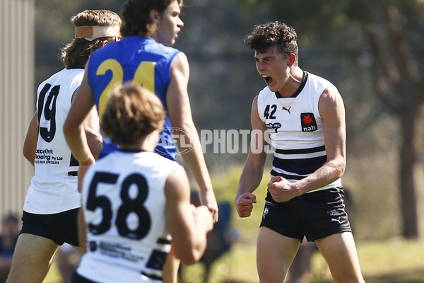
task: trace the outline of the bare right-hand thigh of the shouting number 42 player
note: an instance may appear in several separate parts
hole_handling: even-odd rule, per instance
[[[363,283],[358,253],[351,232],[336,233],[315,241],[336,283]]]

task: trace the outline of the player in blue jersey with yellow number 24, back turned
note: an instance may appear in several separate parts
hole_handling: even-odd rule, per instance
[[[184,139],[176,139],[177,146],[199,185],[201,203],[212,212],[216,222],[218,204],[189,103],[189,63],[183,52],[169,47],[175,43],[184,25],[179,18],[181,6],[182,0],[125,1],[121,13],[123,38],[118,44],[108,45],[105,52],[93,53],[64,123],[64,134],[80,163],[78,178],[81,184],[88,166],[95,162],[82,129],[86,114],[97,105],[101,117],[110,91],[117,84],[140,83],[160,98],[167,112],[166,129],[161,133],[156,152],[175,160],[177,149],[172,143],[171,131],[177,129],[179,137],[184,135]],[[187,141],[190,150],[184,147]],[[117,149],[107,139],[103,146],[100,156]]]

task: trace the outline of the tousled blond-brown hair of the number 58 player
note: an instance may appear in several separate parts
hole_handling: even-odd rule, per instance
[[[143,86],[124,83],[112,91],[100,125],[106,137],[125,148],[163,128],[165,117],[158,96]]]

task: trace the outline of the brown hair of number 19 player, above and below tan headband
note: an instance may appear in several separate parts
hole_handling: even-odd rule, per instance
[[[108,10],[86,10],[73,16],[71,23],[76,27],[85,25],[120,26],[121,18],[117,13]],[[61,50],[61,60],[65,67],[84,67],[103,40],[111,41],[114,40],[114,37],[99,37],[92,41],[85,38],[74,38]]]

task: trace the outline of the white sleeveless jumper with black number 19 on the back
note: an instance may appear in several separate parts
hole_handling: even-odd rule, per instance
[[[82,68],[62,69],[38,86],[35,173],[23,204],[25,212],[56,214],[81,207],[78,161],[71,158],[62,127],[83,76]]]

